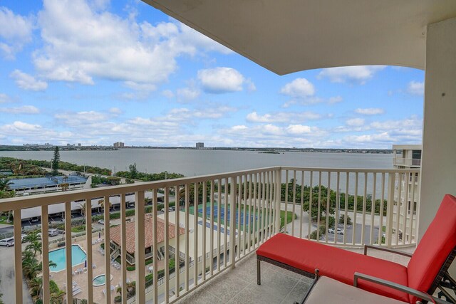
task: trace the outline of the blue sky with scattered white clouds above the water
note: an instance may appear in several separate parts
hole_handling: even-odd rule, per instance
[[[390,149],[420,144],[423,92],[413,68],[279,76],[138,0],[0,1],[0,145]]]

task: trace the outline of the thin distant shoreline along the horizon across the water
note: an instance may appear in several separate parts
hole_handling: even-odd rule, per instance
[[[0,145],[0,151],[53,151],[55,146],[53,145]],[[58,146],[61,151],[112,151],[119,150],[112,146],[74,146],[64,145]],[[225,150],[225,151],[257,151],[262,153],[278,154],[281,152],[307,152],[307,153],[361,153],[361,154],[391,154],[391,149],[326,149],[326,148],[284,148],[284,147],[205,147],[203,149],[197,149],[195,147],[150,147],[150,146],[131,146],[125,147],[126,149],[170,149],[170,150]]]

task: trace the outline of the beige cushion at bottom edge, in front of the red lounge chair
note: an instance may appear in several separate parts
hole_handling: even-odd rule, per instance
[[[404,304],[405,302],[386,298],[383,295],[369,293],[366,290],[322,276],[318,279],[318,282],[314,286],[314,289],[312,289],[311,294],[305,303]]]

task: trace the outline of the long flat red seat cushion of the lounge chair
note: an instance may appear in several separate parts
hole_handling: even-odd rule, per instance
[[[263,243],[258,248],[257,255],[309,273],[314,273],[315,268],[318,268],[321,276],[328,276],[349,285],[353,285],[355,272],[408,285],[407,268],[398,263],[286,234],[276,234]],[[408,294],[398,290],[366,281],[359,281],[358,286],[372,293],[410,303]]]

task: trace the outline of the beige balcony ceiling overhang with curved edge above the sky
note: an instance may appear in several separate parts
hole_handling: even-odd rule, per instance
[[[279,75],[346,65],[424,69],[426,26],[455,0],[142,0]]]

